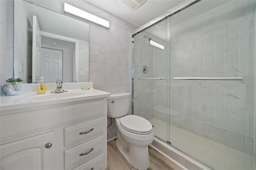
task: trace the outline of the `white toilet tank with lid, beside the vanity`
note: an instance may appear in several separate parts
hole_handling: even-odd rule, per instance
[[[108,97],[108,117],[125,116],[129,111],[130,93],[116,93]]]

